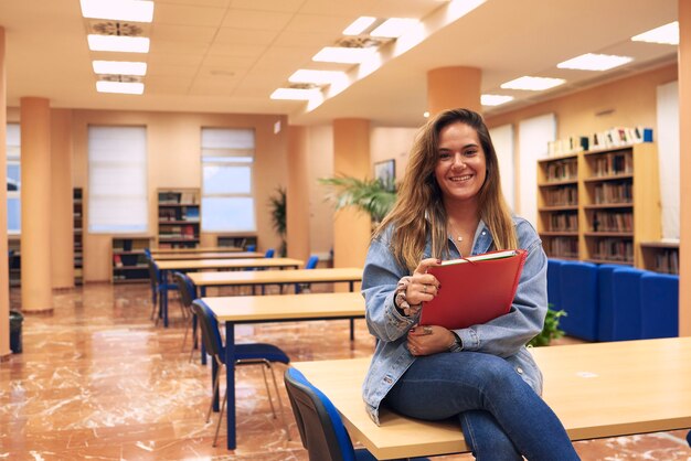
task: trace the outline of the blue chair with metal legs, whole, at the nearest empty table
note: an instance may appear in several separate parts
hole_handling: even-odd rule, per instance
[[[201,300],[194,300],[192,302],[192,312],[196,315],[199,320],[199,324],[202,330],[202,342],[204,343],[204,347],[206,352],[212,356],[214,363],[217,366],[216,376],[213,383],[213,394],[211,397],[211,404],[209,405],[209,411],[206,412],[206,422],[209,422],[211,418],[211,410],[213,409],[213,404],[215,400],[215,396],[219,393],[219,382],[221,377],[221,371],[223,366],[225,366],[225,346],[223,345],[223,340],[221,339],[221,331],[219,330],[219,322],[214,317],[213,312],[206,304],[204,304]],[[265,343],[251,343],[251,344],[236,344],[235,345],[235,366],[238,365],[253,365],[259,364],[264,365],[262,367],[262,373],[264,374],[264,385],[266,386],[266,393],[268,394],[268,401],[272,406],[272,412],[274,414],[274,418],[276,418],[276,409],[274,407],[274,401],[272,399],[272,394],[269,392],[268,380],[266,379],[266,369],[268,368],[272,372],[272,378],[274,380],[274,389],[276,392],[276,398],[278,399],[278,408],[280,409],[280,417],[283,419],[284,426],[286,428],[286,433],[288,435],[288,440],[290,440],[290,431],[288,429],[288,424],[283,414],[283,403],[280,401],[280,393],[278,392],[278,385],[276,384],[276,375],[274,374],[274,363],[283,363],[289,364],[290,358],[288,355],[280,350],[279,347],[273,344]],[[223,419],[223,411],[225,409],[225,404],[227,401],[227,388],[225,390],[225,395],[223,397],[223,404],[221,405],[221,414],[219,416],[219,422],[216,424],[216,433],[213,438],[213,447],[216,446],[216,441],[219,439],[219,429],[221,429],[221,420]]]

